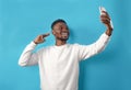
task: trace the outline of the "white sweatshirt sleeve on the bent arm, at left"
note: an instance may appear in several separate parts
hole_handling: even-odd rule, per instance
[[[36,47],[36,44],[34,42],[32,42],[25,47],[25,49],[23,50],[19,59],[20,66],[33,66],[38,64],[38,55],[37,53],[33,53],[35,47]]]

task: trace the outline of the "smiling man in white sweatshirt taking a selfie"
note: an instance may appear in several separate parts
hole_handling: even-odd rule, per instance
[[[26,46],[20,57],[20,66],[39,66],[41,90],[78,90],[79,63],[100,53],[107,45],[112,33],[110,18],[107,12],[100,15],[100,21],[107,30],[94,44],[68,44],[70,35],[66,21],[59,19],[51,24],[56,44],[33,53],[35,47],[45,42],[49,33],[38,35]]]

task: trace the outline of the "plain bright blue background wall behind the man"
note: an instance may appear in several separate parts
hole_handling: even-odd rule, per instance
[[[24,47],[38,34],[50,32],[56,19],[71,30],[69,43],[91,44],[105,26],[98,7],[104,5],[115,30],[107,48],[80,63],[79,90],[131,90],[130,0],[0,0],[0,90],[39,90],[37,66],[20,67]],[[53,36],[37,46],[53,45]]]

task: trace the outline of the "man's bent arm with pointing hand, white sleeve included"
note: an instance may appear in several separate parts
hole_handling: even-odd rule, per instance
[[[33,53],[37,44],[44,43],[45,37],[48,36],[49,33],[38,35],[31,44],[28,44],[25,49],[23,50],[20,59],[19,65],[20,66],[32,66],[38,64],[38,55],[37,53]]]

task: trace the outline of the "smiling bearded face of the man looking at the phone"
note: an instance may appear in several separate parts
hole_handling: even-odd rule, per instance
[[[68,41],[70,33],[67,24],[63,22],[59,22],[55,24],[52,29],[52,34],[56,36],[56,40]]]

